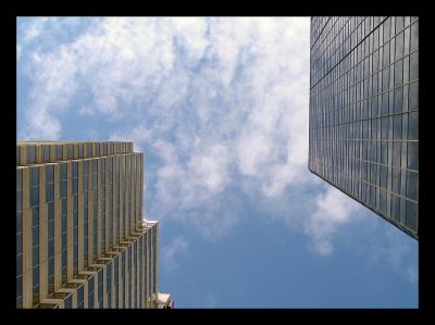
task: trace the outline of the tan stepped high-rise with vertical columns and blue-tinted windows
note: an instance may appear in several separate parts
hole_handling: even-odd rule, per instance
[[[133,142],[18,142],[16,307],[158,308],[159,227]]]

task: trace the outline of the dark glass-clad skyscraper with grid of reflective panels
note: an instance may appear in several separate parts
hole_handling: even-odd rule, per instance
[[[309,170],[419,238],[419,17],[312,17]]]

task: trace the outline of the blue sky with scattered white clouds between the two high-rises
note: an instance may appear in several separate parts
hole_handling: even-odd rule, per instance
[[[17,20],[17,138],[145,152],[176,308],[418,307],[418,242],[308,172],[309,23]]]

